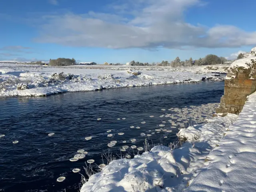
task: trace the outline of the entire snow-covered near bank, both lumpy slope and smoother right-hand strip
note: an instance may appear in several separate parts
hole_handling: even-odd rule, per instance
[[[239,117],[218,116],[180,130],[178,136],[186,143],[178,149],[156,146],[134,159],[114,160],[91,176],[81,192],[255,191],[255,103],[256,93]]]

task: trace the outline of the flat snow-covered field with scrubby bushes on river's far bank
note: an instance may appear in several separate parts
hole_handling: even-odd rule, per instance
[[[213,76],[212,72],[226,72],[227,68],[226,65],[164,68],[1,64],[0,96],[45,96],[61,92],[200,82],[205,77],[223,80]],[[134,75],[131,70],[141,74]],[[59,75],[62,72],[64,74]]]

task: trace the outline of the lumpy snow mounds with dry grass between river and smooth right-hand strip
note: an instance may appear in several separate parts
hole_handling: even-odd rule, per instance
[[[114,160],[92,175],[80,192],[182,191],[191,176],[204,166],[205,157],[236,118],[234,114],[218,116],[207,124],[180,130],[178,136],[188,140],[180,148],[155,146],[133,159]],[[196,135],[200,139],[195,142]]]

